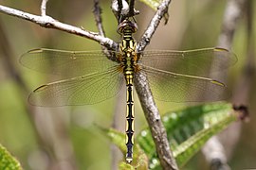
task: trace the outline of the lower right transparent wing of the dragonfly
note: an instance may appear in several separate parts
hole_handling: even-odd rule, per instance
[[[141,66],[155,99],[167,102],[218,101],[229,97],[227,87],[214,79],[175,74]]]

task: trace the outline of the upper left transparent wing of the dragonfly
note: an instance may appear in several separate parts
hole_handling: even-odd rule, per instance
[[[115,51],[108,52],[118,54]],[[117,65],[100,50],[64,51],[46,48],[28,51],[22,55],[20,62],[27,68],[63,77],[83,76]]]

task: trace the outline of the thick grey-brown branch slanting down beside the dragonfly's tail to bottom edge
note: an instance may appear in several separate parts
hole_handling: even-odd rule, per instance
[[[147,78],[141,72],[135,76],[137,96],[144,111],[152,133],[156,153],[161,166],[165,170],[178,169],[171,151],[165,127],[162,124],[159,111],[155,106],[154,97],[149,88]]]

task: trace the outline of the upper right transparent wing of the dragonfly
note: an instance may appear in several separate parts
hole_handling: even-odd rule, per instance
[[[144,51],[141,63],[168,72],[209,76],[233,65],[236,56],[223,48],[204,48],[189,51]]]

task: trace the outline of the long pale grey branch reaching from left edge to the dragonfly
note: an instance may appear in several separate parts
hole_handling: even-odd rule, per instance
[[[96,42],[100,42],[101,45],[105,46],[108,49],[117,49],[118,47],[118,43],[114,42],[111,39],[102,37],[101,35],[99,35],[99,33],[96,32],[91,32],[91,31],[87,31],[84,30],[82,28],[76,27],[76,26],[70,26],[70,25],[66,25],[64,23],[61,23],[49,16],[38,16],[38,15],[33,15],[21,10],[17,10],[14,8],[8,8],[8,7],[4,7],[0,5],[0,12],[2,13],[6,13],[12,16],[16,16],[18,18],[21,19],[25,19],[27,21],[30,21],[32,23],[35,23],[37,25],[46,27],[46,28],[54,28],[54,29],[59,29],[71,34],[75,34],[78,36],[82,36],[85,37],[87,39],[96,41]]]

